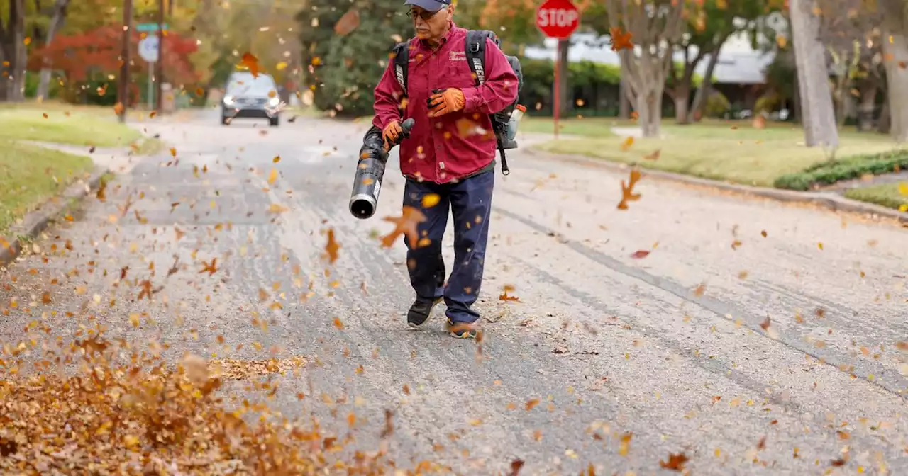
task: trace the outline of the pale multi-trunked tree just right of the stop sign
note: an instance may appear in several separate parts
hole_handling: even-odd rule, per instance
[[[632,102],[644,137],[658,137],[662,121],[662,95],[672,61],[672,45],[683,33],[684,3],[677,0],[607,0],[612,28],[632,34],[639,55],[620,49],[627,64],[627,82],[635,93]],[[615,39],[613,42],[617,44]]]

